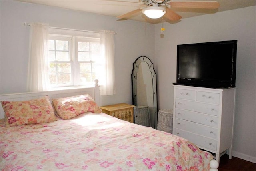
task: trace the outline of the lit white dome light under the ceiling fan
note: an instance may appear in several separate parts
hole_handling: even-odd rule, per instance
[[[166,9],[159,6],[150,6],[142,9],[142,13],[148,18],[156,19],[162,17],[166,13]]]

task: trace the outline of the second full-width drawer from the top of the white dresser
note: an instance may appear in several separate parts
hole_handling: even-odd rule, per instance
[[[201,123],[210,127],[218,127],[218,117],[212,115],[206,115],[197,113],[194,111],[187,111],[182,109],[175,110],[175,117],[178,119],[184,119],[195,123]]]

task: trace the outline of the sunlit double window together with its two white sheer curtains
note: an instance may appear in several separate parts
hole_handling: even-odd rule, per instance
[[[96,78],[101,95],[116,93],[115,32],[49,28],[46,23],[32,23],[30,26],[28,91],[95,86],[93,80]]]

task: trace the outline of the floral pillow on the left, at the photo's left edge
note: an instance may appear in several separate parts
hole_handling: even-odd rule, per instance
[[[56,121],[48,96],[28,101],[1,101],[6,127]]]

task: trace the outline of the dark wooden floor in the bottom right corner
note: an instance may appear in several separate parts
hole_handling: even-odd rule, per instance
[[[256,171],[256,163],[232,157],[228,159],[228,155],[224,154],[220,157],[219,171]]]

